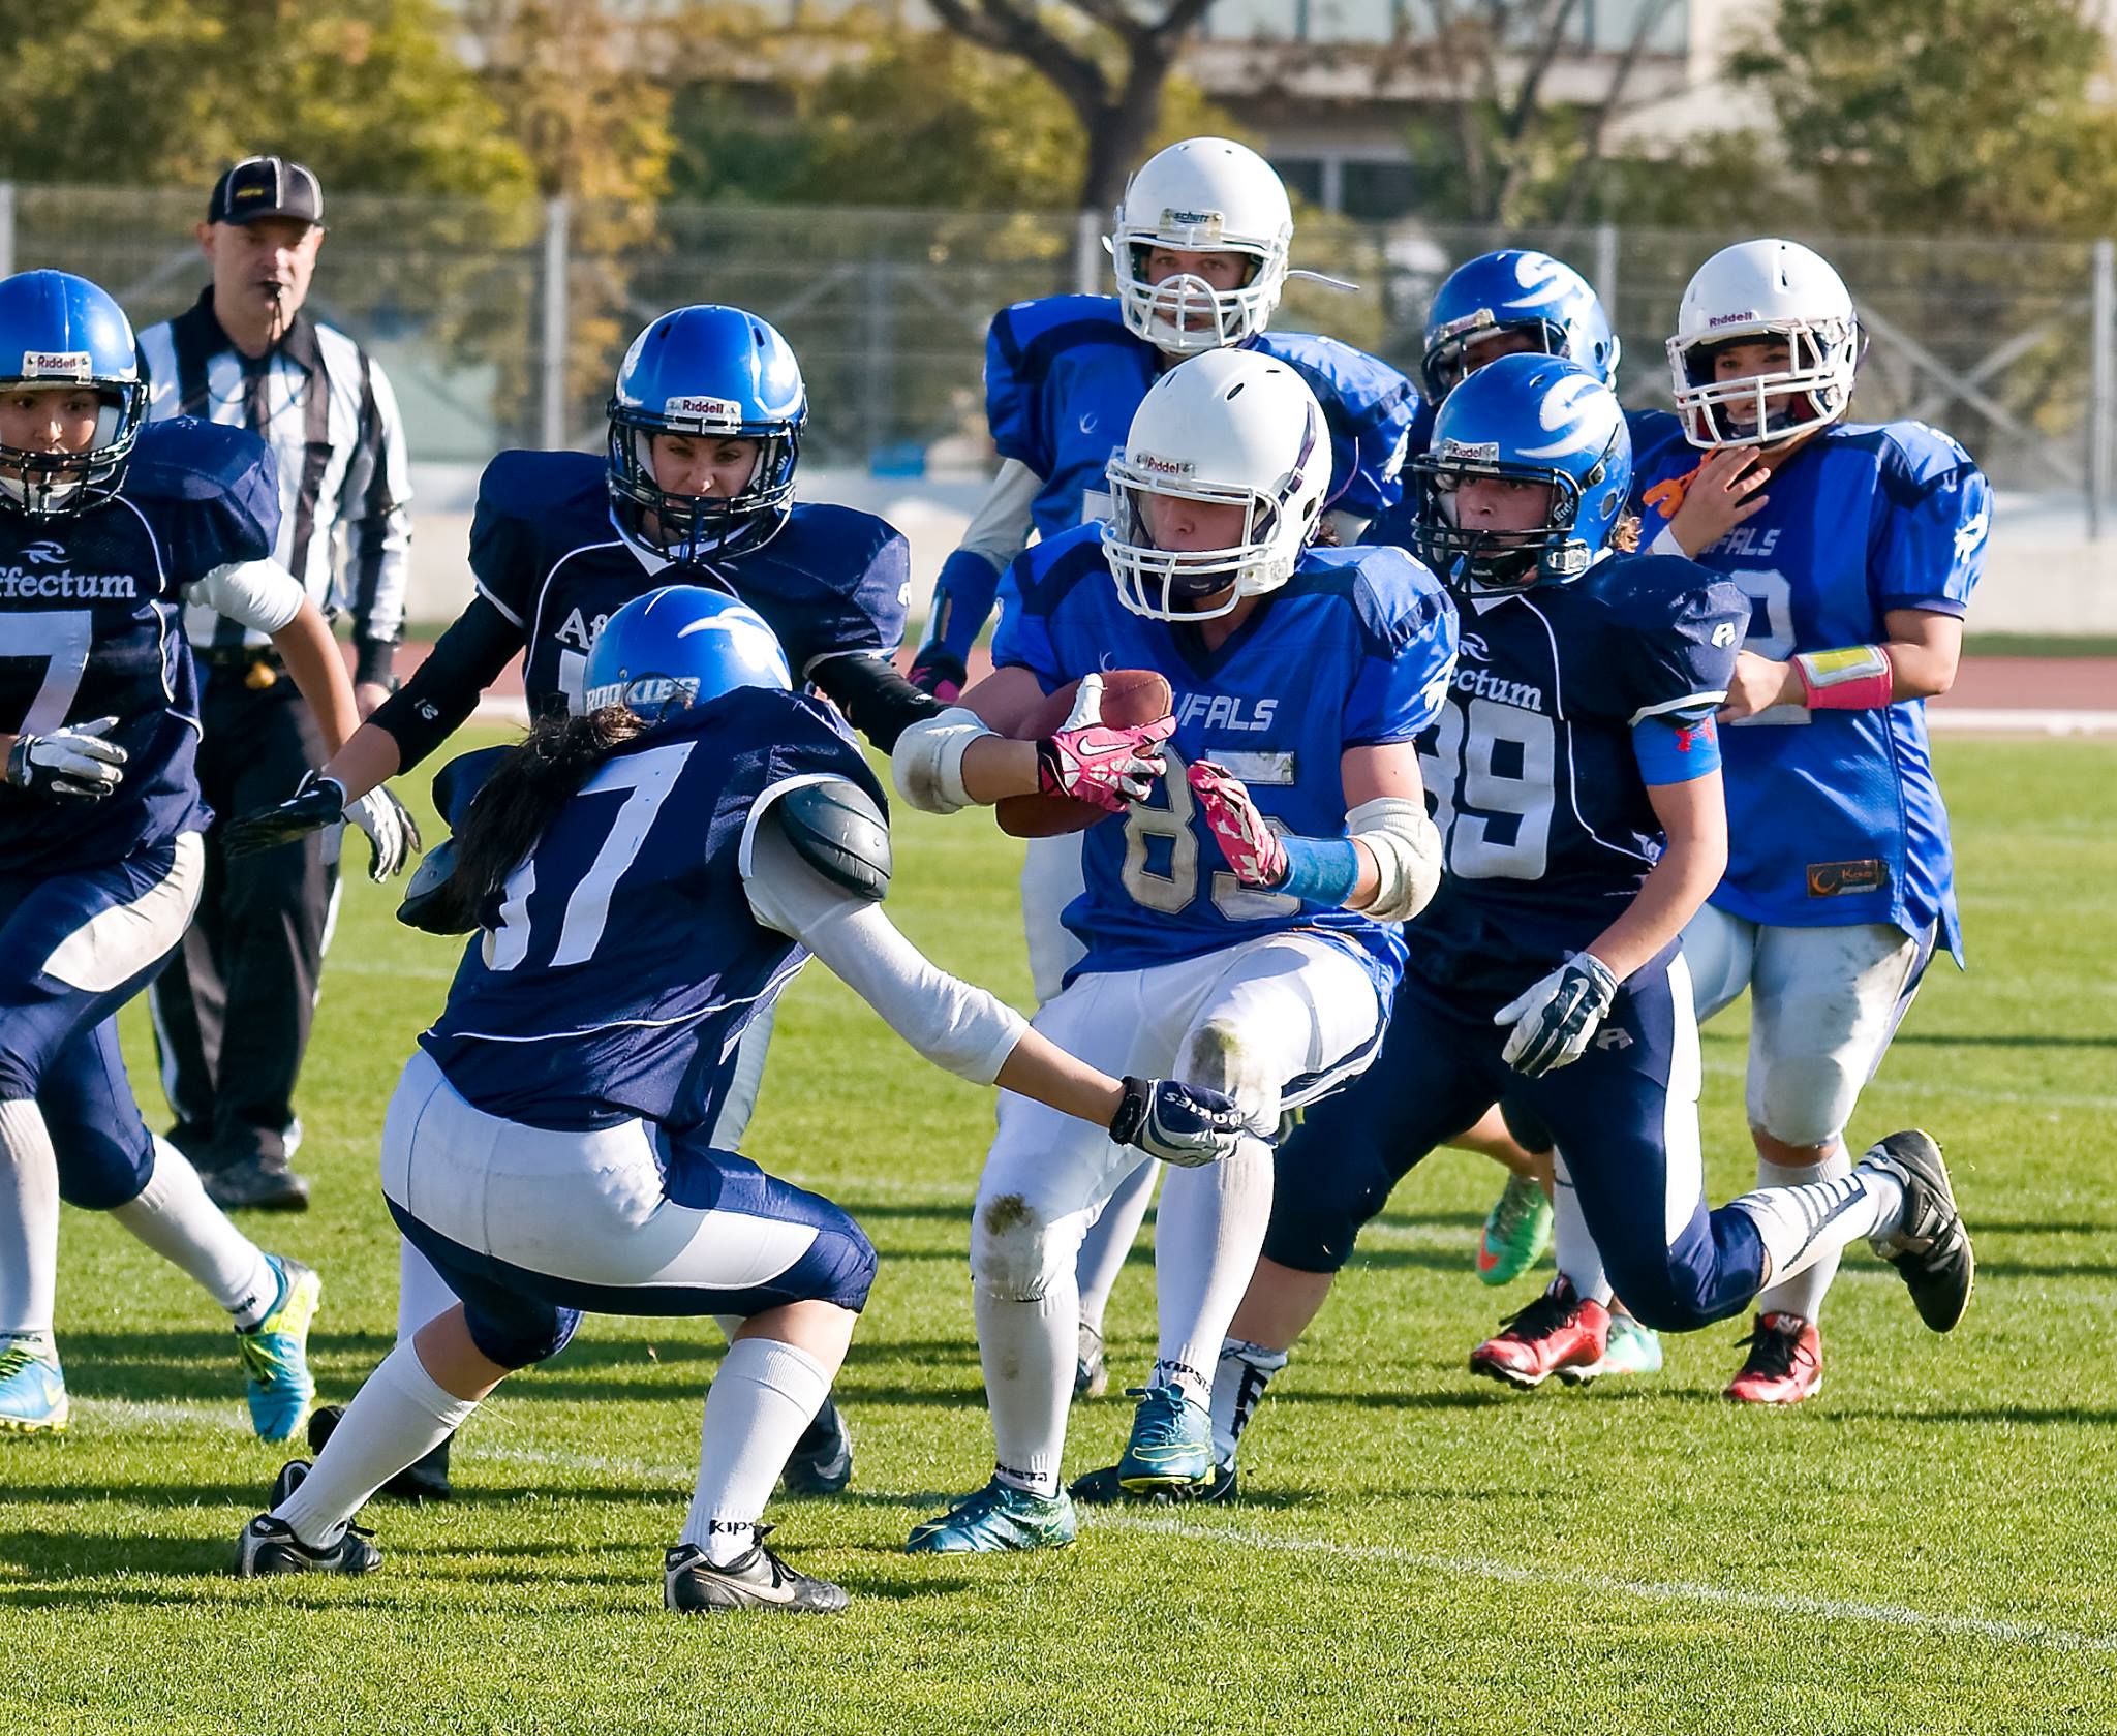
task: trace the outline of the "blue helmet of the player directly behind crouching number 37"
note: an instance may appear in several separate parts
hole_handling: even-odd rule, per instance
[[[610,394],[610,498],[686,561],[754,548],[785,523],[809,394],[792,347],[741,307],[680,307],[633,339]],[[758,468],[726,500],[669,493],[654,481],[656,434],[758,440]]]

